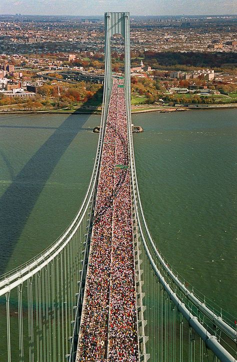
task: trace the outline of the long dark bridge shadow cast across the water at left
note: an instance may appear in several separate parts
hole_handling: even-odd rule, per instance
[[[84,103],[83,108],[78,108],[76,112],[83,112],[85,107],[90,106],[91,103],[96,105],[97,102],[99,105],[100,97],[97,93],[92,99]],[[53,134],[24,165],[18,175],[13,176],[12,170],[9,169],[12,183],[0,197],[0,275],[6,270],[27,217],[30,215],[40,192],[77,133],[85,130],[82,127],[89,116],[90,114],[83,114],[81,117],[78,114],[69,115],[59,127],[53,128],[55,129]],[[6,127],[21,128],[20,126]],[[32,127],[26,126],[25,128],[30,129]],[[6,165],[8,165],[7,162]],[[9,168],[9,165],[7,167]]]

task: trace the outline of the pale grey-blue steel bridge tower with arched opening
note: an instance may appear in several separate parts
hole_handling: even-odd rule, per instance
[[[124,38],[124,85],[126,109],[130,115],[130,16],[129,13],[105,13],[104,14],[104,57],[105,57],[105,78],[104,78],[104,99],[103,104],[109,104],[109,97],[112,87],[112,69],[111,69],[111,37],[114,34],[120,34]],[[107,108],[104,109],[105,115]],[[128,116],[130,119],[130,117]]]

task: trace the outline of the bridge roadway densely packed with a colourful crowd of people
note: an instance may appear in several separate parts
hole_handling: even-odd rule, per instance
[[[127,116],[122,85],[123,80],[113,79],[76,361],[139,360]]]

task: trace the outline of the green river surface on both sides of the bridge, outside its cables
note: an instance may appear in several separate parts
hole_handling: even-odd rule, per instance
[[[95,115],[0,115],[0,272],[66,228],[93,167]],[[237,110],[133,115],[144,214],[185,280],[237,311]]]

